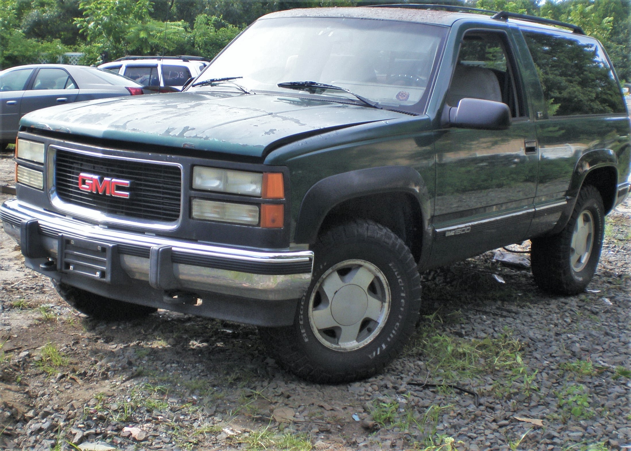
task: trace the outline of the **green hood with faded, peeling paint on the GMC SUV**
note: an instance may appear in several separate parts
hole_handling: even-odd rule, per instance
[[[93,138],[262,157],[279,140],[398,117],[409,116],[318,99],[204,91],[59,105],[30,112],[20,124]]]

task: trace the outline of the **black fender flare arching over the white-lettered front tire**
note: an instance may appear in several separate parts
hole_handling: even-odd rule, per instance
[[[315,183],[300,204],[294,234],[295,243],[315,243],[327,213],[340,203],[383,193],[409,193],[420,207],[423,244],[431,243],[431,198],[423,177],[408,166],[381,166],[343,172]],[[423,246],[423,256],[428,250]],[[423,260],[423,258],[422,258]]]

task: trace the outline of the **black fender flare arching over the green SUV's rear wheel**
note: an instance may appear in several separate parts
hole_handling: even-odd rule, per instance
[[[574,166],[574,172],[572,172],[572,178],[570,179],[570,186],[567,189],[567,207],[563,210],[557,225],[550,231],[550,233],[548,233],[548,235],[557,234],[562,231],[565,224],[567,224],[567,221],[570,219],[570,216],[574,211],[579,191],[581,191],[587,176],[591,172],[596,171],[597,169],[602,169],[603,167],[609,167],[617,174],[617,164],[618,159],[616,158],[615,152],[611,149],[595,149],[581,155],[581,158],[579,158],[578,162]],[[617,189],[617,186],[614,188]]]

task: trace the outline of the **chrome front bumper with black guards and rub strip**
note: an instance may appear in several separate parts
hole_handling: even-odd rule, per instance
[[[119,268],[119,272],[129,279],[148,282],[156,291],[201,291],[262,301],[283,301],[302,297],[311,281],[313,253],[308,250],[251,251],[112,230],[48,212],[19,200],[3,203],[0,216],[4,231],[21,244],[27,263],[29,259],[37,263],[43,258],[40,268],[34,266],[35,263],[32,266],[50,277],[53,277],[51,272],[76,272],[73,266],[77,265],[62,267],[47,262],[49,258],[59,260],[59,252],[64,253],[60,245],[63,241],[68,246],[79,246],[79,254],[83,253],[81,246],[85,246],[86,250],[107,247],[107,258],[115,260],[113,265],[108,263],[109,268]],[[48,267],[47,263],[50,263]],[[86,274],[86,268],[90,268],[92,263],[92,260],[83,262],[80,265],[83,268],[81,274],[68,274],[67,277],[83,276],[98,280],[100,284],[115,284],[104,269],[95,267],[93,274]]]

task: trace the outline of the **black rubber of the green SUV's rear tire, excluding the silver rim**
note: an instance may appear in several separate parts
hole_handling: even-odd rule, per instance
[[[577,274],[570,264],[570,243],[579,214],[587,208],[594,217],[594,241],[587,266],[578,274],[581,279],[577,279]],[[603,233],[603,198],[596,187],[584,186],[563,230],[554,236],[531,240],[531,267],[537,286],[552,294],[572,295],[585,291],[598,266]]]

